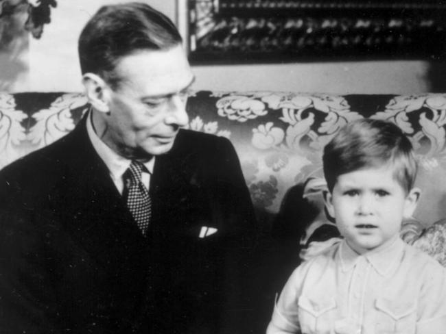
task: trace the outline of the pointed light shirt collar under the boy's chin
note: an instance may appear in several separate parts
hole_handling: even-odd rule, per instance
[[[342,271],[351,270],[357,261],[361,258],[366,259],[375,270],[382,276],[387,277],[392,274],[392,269],[395,268],[397,261],[401,259],[403,255],[404,242],[399,237],[395,237],[395,240],[390,244],[385,244],[373,251],[359,255],[347,244],[346,240],[343,240],[340,245],[340,261]]]

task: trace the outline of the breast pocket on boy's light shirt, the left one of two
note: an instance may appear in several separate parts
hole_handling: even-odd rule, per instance
[[[330,333],[334,322],[336,301],[327,296],[301,296],[298,316],[303,334]]]

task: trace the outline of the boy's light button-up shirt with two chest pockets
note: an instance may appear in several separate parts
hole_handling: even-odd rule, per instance
[[[267,333],[446,333],[445,268],[399,238],[384,246],[358,255],[342,240],[305,261]]]

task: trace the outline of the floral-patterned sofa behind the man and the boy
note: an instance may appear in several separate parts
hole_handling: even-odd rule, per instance
[[[67,134],[87,109],[78,92],[0,93],[0,168]],[[446,94],[196,91],[187,111],[189,129],[229,138],[239,155],[261,230],[257,275],[265,312],[309,241],[338,237],[323,210],[321,154],[357,118],[389,120],[410,138],[422,195],[401,235],[446,266]]]

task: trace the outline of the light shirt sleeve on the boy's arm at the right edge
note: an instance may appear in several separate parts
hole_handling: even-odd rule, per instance
[[[416,334],[444,334],[446,329],[446,268],[434,260],[431,264],[424,270]]]

